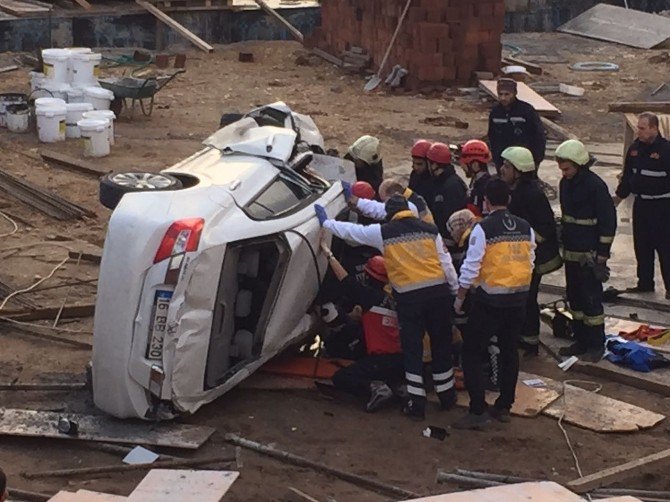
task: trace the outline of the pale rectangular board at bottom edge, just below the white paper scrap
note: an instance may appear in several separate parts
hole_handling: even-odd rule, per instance
[[[219,502],[239,472],[152,469],[128,496],[129,502]]]

